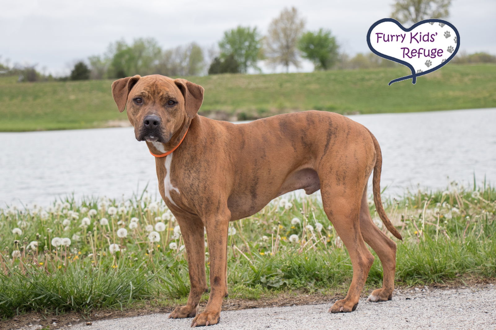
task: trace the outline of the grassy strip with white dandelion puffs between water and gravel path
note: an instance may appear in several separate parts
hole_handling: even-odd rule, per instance
[[[445,192],[407,193],[385,204],[404,237],[403,242],[396,240],[397,285],[496,276],[494,187],[453,184]],[[373,204],[370,211],[382,227]],[[102,218],[108,224],[101,224]],[[131,229],[133,221],[137,227]],[[159,241],[150,242],[146,226],[157,222],[165,224],[165,230],[159,232]],[[321,230],[317,223],[323,225]],[[329,224],[321,204],[309,198],[276,200],[254,216],[233,222],[230,297],[258,299],[347,287],[351,263]],[[146,301],[184,303],[189,280],[176,225],[164,203],[146,195],[127,201],[92,198],[59,201],[48,208],[1,209],[0,318],[28,311],[121,309]],[[119,228],[127,228],[126,237],[117,236]],[[291,242],[291,235],[298,241]],[[71,243],[54,246],[55,237],[71,238]],[[29,246],[32,241],[37,247]],[[110,244],[121,250],[112,253]],[[380,286],[381,278],[376,258],[367,287]]]

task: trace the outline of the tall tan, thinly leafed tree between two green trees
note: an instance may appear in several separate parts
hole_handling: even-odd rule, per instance
[[[299,17],[298,10],[295,7],[284,8],[281,15],[270,23],[265,38],[268,63],[274,66],[282,64],[286,66],[286,72],[291,64],[300,67],[297,44],[304,28],[305,21]]]

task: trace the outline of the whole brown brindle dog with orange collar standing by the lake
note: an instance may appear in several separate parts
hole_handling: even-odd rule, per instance
[[[369,213],[367,182],[372,170],[377,213],[394,236],[401,235],[382,206],[382,158],[367,128],[324,111],[281,114],[245,124],[209,119],[197,114],[203,102],[201,86],[161,75],[116,80],[112,94],[119,111],[127,106],[136,139],[146,141],[156,156],[160,194],[185,241],[191,290],[186,306],[176,308],[170,318],[194,317],[192,327],[219,322],[222,300],[228,295],[229,221],[251,216],[296,189],[307,194],[321,190],[325,214],[353,265],[348,294],[329,311],[357,308],[374,259],[365,243],[377,253],[384,274],[382,287],[372,291],[369,300],[391,299],[396,244],[375,226]],[[211,291],[205,310],[197,315],[200,297],[208,289],[204,228]]]

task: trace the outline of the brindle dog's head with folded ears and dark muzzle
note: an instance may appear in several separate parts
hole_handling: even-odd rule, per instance
[[[127,106],[136,140],[167,143],[200,109],[203,87],[158,74],[135,75],[114,81],[112,96],[119,111]]]

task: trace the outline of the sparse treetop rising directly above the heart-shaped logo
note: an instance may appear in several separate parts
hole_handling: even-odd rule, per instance
[[[449,15],[451,0],[396,0],[391,17],[401,24],[415,24],[429,18]]]

